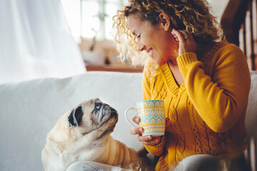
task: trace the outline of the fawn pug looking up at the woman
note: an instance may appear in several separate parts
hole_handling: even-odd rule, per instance
[[[94,161],[130,170],[144,170],[148,161],[139,157],[111,132],[118,121],[114,108],[99,98],[86,100],[61,116],[47,134],[41,160],[46,171],[64,171],[77,161]]]

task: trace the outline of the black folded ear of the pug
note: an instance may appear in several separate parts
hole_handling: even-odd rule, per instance
[[[83,111],[81,109],[81,106],[71,110],[71,114],[68,117],[69,124],[71,126],[78,127],[81,123],[82,116],[83,116]]]

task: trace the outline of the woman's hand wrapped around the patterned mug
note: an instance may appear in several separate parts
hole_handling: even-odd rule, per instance
[[[138,135],[138,140],[140,142],[142,142],[143,145],[153,146],[153,145],[157,145],[158,143],[161,142],[161,136],[153,137],[151,135],[147,135],[147,136],[141,135],[141,133],[143,133],[143,128],[141,128],[139,126],[140,118],[138,117],[138,115],[135,115],[132,120],[133,120],[133,122],[135,122],[138,125],[138,127],[131,128],[130,133],[132,135]],[[168,126],[170,124],[171,124],[171,122],[168,120],[168,118],[166,118],[166,126]]]

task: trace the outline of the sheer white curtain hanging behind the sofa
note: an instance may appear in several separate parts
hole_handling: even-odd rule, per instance
[[[84,72],[59,0],[0,1],[0,83]]]

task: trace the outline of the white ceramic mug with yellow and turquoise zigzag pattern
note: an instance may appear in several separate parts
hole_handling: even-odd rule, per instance
[[[143,136],[152,135],[154,137],[164,135],[166,121],[163,100],[143,100],[136,103],[136,105],[137,108],[131,107],[126,110],[126,121],[137,128],[127,116],[129,110],[134,110],[141,119],[139,125],[143,128]]]

